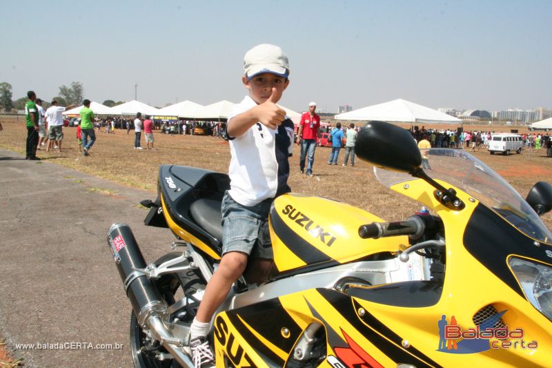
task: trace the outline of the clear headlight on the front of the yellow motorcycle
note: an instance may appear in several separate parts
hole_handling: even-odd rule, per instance
[[[552,267],[515,257],[508,263],[527,300],[552,320]]]

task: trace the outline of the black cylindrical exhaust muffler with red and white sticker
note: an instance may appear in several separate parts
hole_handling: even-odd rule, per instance
[[[147,264],[140,248],[127,224],[112,224],[108,233],[108,246],[121,275],[126,296],[132,304],[140,325],[144,325],[153,312],[166,310],[159,291],[150,279],[137,269],[145,269]]]

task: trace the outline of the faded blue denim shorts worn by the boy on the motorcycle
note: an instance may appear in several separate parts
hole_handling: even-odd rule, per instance
[[[222,254],[242,252],[254,258],[273,259],[268,231],[268,212],[272,200],[244,206],[224,193],[222,199]]]

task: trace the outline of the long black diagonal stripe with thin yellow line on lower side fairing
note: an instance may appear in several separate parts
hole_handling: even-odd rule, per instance
[[[441,367],[437,362],[423,354],[411,345],[408,350],[401,345],[402,338],[395,332],[385,327],[382,322],[373,315],[364,314],[362,321],[369,327],[366,327],[360,320],[356,311],[361,306],[342,293],[330,289],[317,289],[317,291],[326,299],[346,320],[355,327],[362,335],[380,349],[386,356],[397,363],[414,365],[415,367]],[[352,301],[352,303],[351,303]],[[385,336],[385,338],[381,335]],[[391,340],[391,342],[389,341]],[[370,354],[370,351],[367,351]]]

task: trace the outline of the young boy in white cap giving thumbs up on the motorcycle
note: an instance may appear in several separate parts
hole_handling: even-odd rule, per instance
[[[246,52],[242,82],[249,95],[234,107],[226,129],[231,158],[230,190],[221,208],[222,259],[190,327],[195,367],[213,365],[206,338],[210,320],[244,273],[249,256],[255,258],[250,265],[253,282],[266,279],[272,267],[268,211],[275,197],[290,191],[293,122],[276,106],[289,84],[288,75],[288,57],[278,46],[262,44]]]

